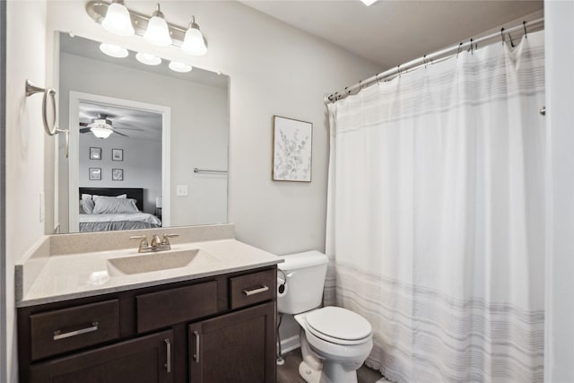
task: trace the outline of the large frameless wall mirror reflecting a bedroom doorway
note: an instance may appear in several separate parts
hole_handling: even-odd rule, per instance
[[[59,42],[59,232],[227,222],[229,77]]]

